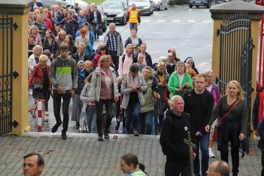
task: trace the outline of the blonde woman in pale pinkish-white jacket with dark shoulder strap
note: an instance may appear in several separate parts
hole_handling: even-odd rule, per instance
[[[134,62],[135,48],[132,44],[128,44],[125,48],[125,53],[119,58],[118,74],[120,76],[129,72],[129,67]]]

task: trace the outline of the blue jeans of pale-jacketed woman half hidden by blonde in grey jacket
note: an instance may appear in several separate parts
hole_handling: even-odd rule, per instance
[[[96,107],[94,105],[87,105],[84,112],[87,127],[90,133],[97,133],[96,126]]]

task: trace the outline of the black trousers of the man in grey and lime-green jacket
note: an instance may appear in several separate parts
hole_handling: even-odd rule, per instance
[[[62,114],[63,114],[63,121],[62,121],[62,133],[66,133],[68,130],[69,125],[69,105],[71,101],[71,95],[70,92],[66,92],[65,94],[58,94],[53,92],[53,111],[54,116],[56,119],[56,123],[61,122],[60,118],[60,106],[61,106],[61,98],[63,99],[62,102]]]

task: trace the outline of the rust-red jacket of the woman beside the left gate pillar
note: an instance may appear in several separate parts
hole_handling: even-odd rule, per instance
[[[50,66],[49,65],[46,65],[46,68],[47,68],[47,72],[48,72],[48,76],[49,76],[49,68]],[[28,89],[30,88],[30,85],[32,84],[33,82],[33,86],[35,85],[35,82],[42,82],[43,83],[44,81],[44,76],[43,76],[43,73],[42,73],[42,68],[41,68],[41,64],[37,64],[34,66],[32,72],[31,72],[31,75],[28,79]],[[49,88],[51,89],[51,82],[50,82],[50,79],[49,79]]]

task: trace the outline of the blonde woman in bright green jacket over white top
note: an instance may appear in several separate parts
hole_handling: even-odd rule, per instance
[[[170,91],[170,98],[175,95],[183,97],[187,90],[192,89],[191,76],[187,73],[187,67],[183,62],[177,62],[175,71],[170,76],[168,88]]]

